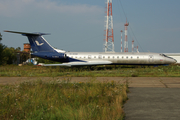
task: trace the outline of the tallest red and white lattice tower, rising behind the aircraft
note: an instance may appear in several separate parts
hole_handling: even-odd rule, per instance
[[[107,0],[105,52],[114,52],[112,0]]]

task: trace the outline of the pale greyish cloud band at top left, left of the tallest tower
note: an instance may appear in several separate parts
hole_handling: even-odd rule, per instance
[[[58,12],[65,14],[99,14],[104,9],[95,5],[87,4],[58,4],[50,0],[1,0],[0,16],[15,17],[32,11]]]

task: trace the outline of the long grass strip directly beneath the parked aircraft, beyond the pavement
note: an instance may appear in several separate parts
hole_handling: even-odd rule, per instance
[[[0,66],[0,77],[179,77],[180,66],[42,67]]]

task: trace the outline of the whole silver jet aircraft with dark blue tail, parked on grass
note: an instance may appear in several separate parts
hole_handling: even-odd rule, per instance
[[[4,31],[27,36],[34,56],[61,62],[43,66],[93,66],[93,65],[168,65],[177,61],[164,54],[130,52],[66,52],[53,48],[42,35],[45,33],[26,33]]]

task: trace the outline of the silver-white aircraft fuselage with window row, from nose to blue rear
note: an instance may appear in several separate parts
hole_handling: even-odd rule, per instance
[[[158,53],[66,52],[67,57],[80,61],[110,61],[112,64],[171,64],[176,60]]]

